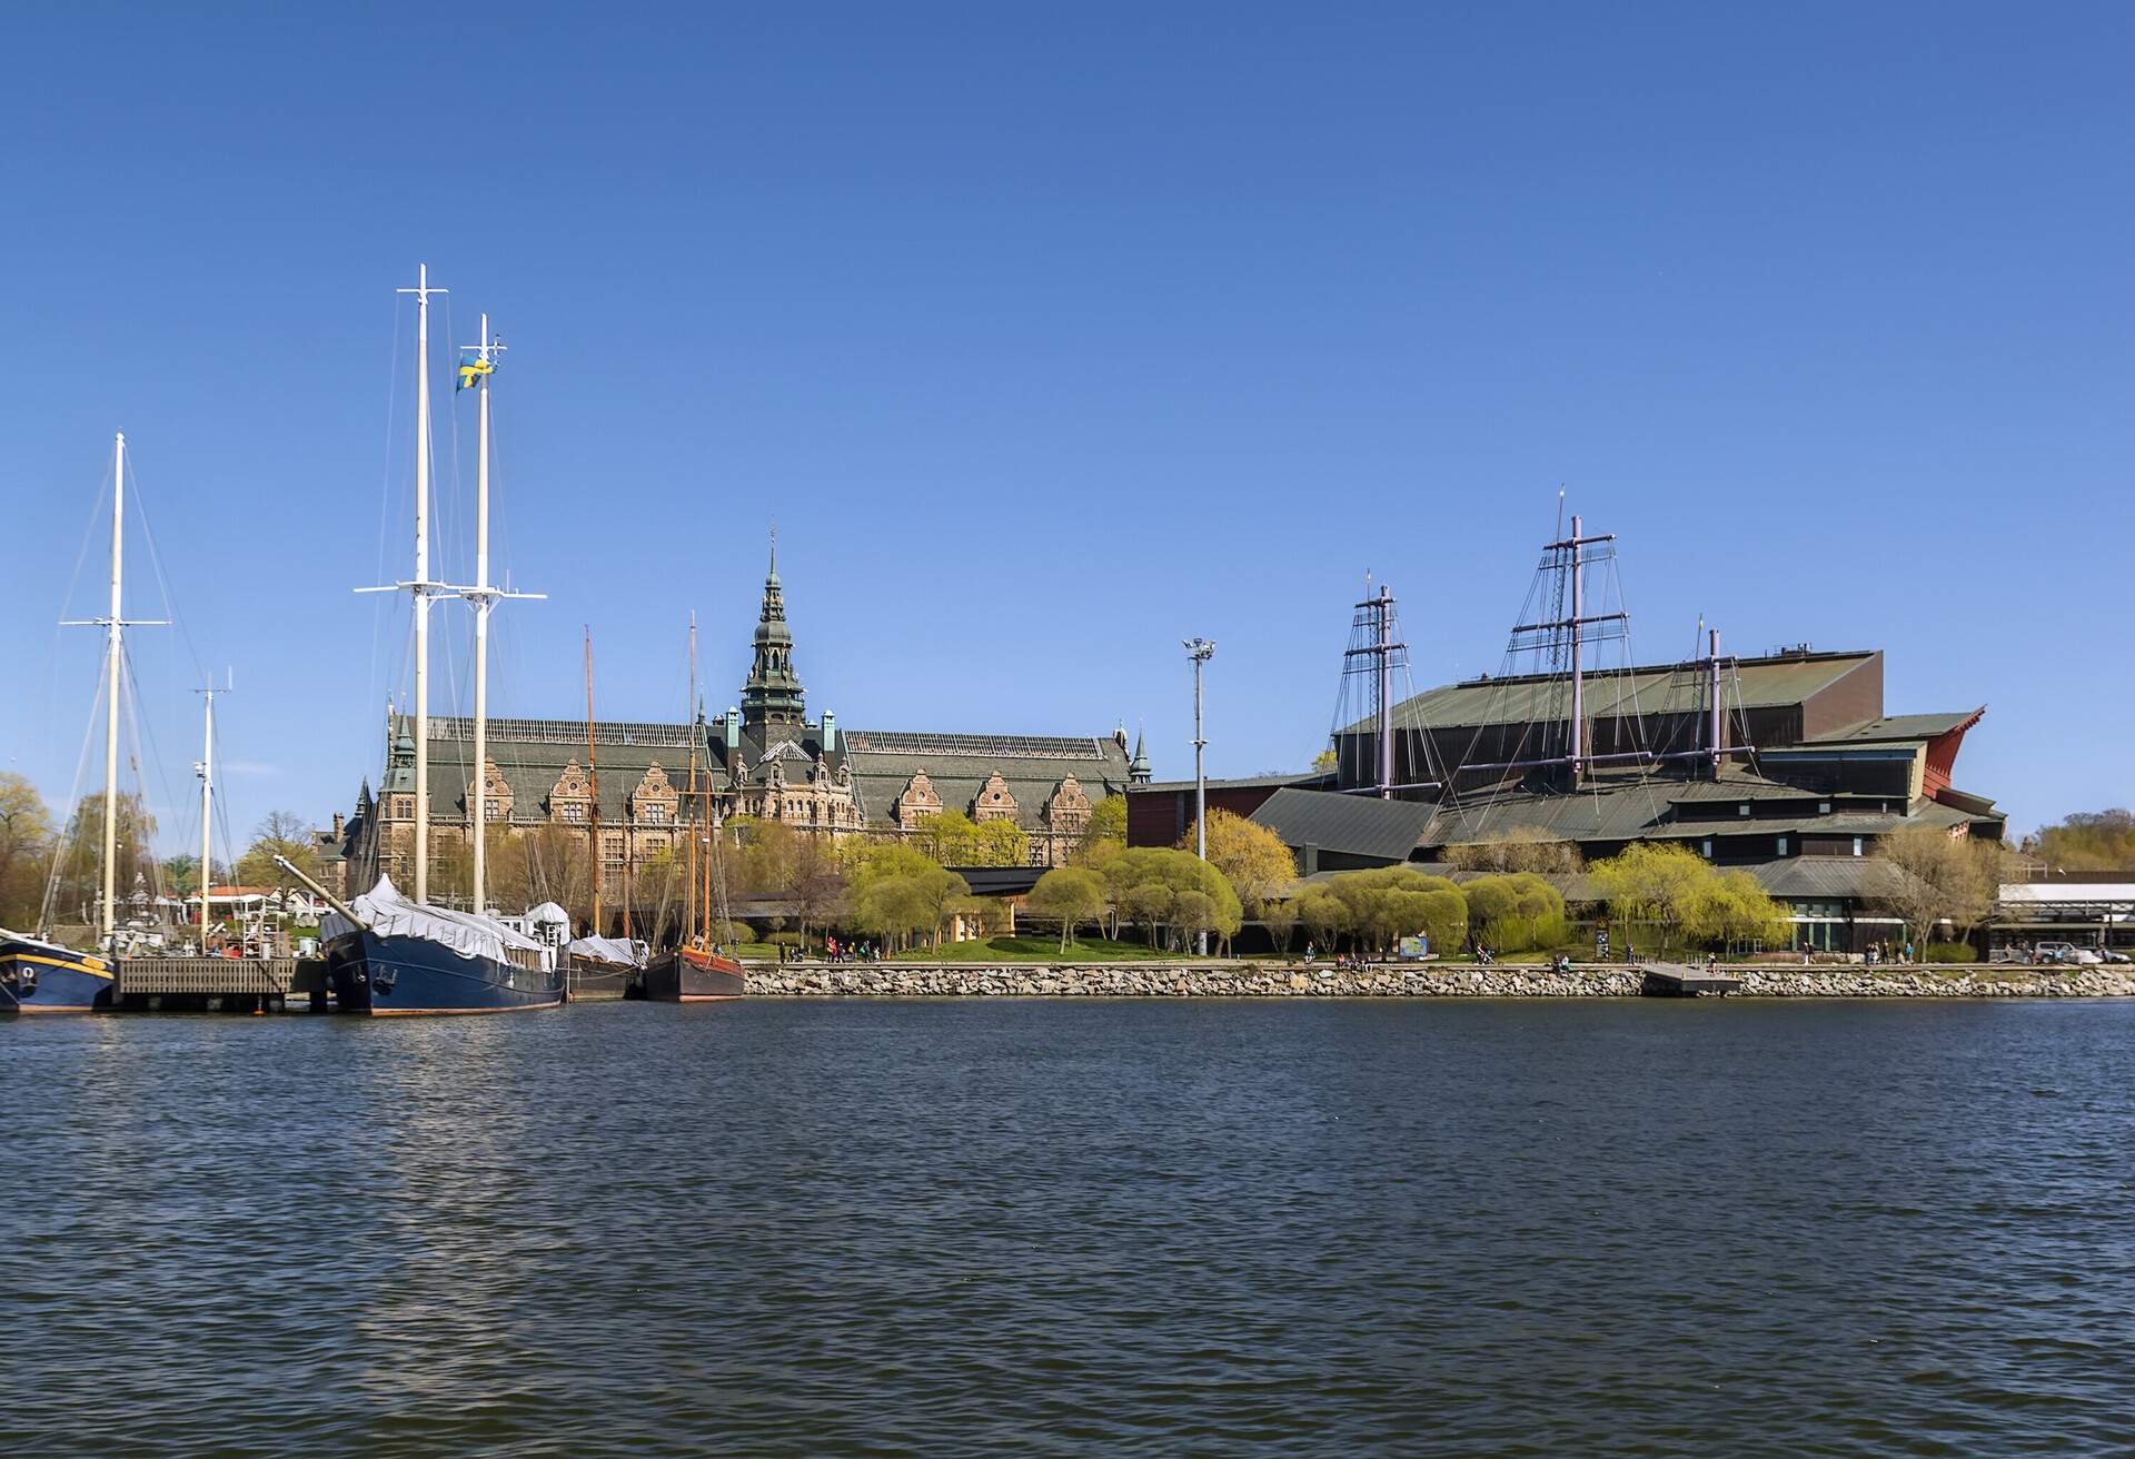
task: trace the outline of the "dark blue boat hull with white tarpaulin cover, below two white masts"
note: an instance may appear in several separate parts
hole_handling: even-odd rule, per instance
[[[295,867],[284,869],[303,878]],[[384,876],[352,906],[331,897],[329,906],[318,934],[342,1013],[510,1013],[564,1004],[553,951],[493,916],[410,901]]]

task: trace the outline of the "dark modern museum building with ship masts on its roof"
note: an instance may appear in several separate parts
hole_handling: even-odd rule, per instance
[[[1601,662],[1610,645],[1616,666]],[[1507,837],[1571,842],[1586,859],[1676,842],[1783,899],[1853,910],[1875,897],[1862,861],[1877,837],[2005,833],[1994,801],[1956,782],[1983,705],[1885,713],[1881,649],[1727,656],[1706,626],[1699,649],[1631,660],[1614,538],[1573,517],[1544,547],[1501,673],[1396,694],[1407,654],[1379,585],[1343,656],[1334,767],[1211,782],[1208,803],[1275,829],[1304,874]],[[1176,844],[1191,805],[1191,782],[1136,786],[1127,840]]]

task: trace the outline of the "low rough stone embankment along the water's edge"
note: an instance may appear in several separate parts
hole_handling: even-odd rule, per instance
[[[1734,998],[2135,998],[2135,972],[2086,968],[1734,966]],[[1644,970],[1499,963],[762,963],[760,998],[1635,998]]]

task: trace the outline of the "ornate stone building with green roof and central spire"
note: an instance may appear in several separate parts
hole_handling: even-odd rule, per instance
[[[429,720],[431,822],[448,833],[472,822],[472,722]],[[371,865],[393,869],[414,820],[414,739],[408,716],[386,720],[386,769],[374,797],[365,780],[357,814],[322,835],[331,865],[350,884]],[[786,590],[773,540],[749,673],[724,713],[692,722],[489,720],[489,816],[512,831],[544,825],[600,837],[604,867],[645,861],[675,844],[696,812],[690,775],[711,812],[779,820],[828,835],[910,833],[942,812],[1010,820],[1029,835],[1031,861],[1057,865],[1089,825],[1091,805],[1149,780],[1140,746],[1110,735],[976,735],[843,728],[824,711],[807,718],[794,664]],[[598,827],[598,831],[596,831]]]

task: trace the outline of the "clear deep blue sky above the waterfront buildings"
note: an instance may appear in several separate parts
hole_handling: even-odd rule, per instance
[[[0,763],[73,780],[124,429],[169,840],[194,654],[239,835],[352,801],[427,261],[440,363],[512,344],[497,713],[583,711],[583,624],[604,718],[679,713],[690,609],[724,707],[775,517],[811,711],[1179,775],[1200,632],[1213,773],[1296,767],[1366,568],[1418,686],[1497,669],[1565,483],[1642,656],[1879,645],[1892,711],[1988,705],[2018,829],[2126,803],[2131,17],[11,6]]]

